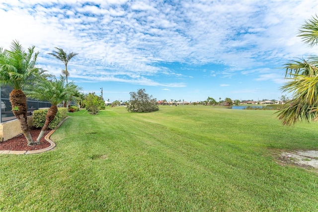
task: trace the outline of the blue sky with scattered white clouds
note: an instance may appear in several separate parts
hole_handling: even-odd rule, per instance
[[[59,77],[55,47],[77,56],[69,82],[104,100],[145,89],[157,100],[279,100],[284,64],[317,55],[298,37],[313,0],[0,0],[0,47],[39,51]]]

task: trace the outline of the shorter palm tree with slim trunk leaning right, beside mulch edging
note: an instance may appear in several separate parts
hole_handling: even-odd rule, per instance
[[[79,88],[74,83],[69,83],[65,85],[66,78],[60,75],[60,79],[43,80],[38,82],[33,89],[27,89],[25,91],[26,95],[32,99],[40,101],[48,101],[52,104],[49,108],[45,123],[41,129],[41,132],[36,139],[36,143],[40,144],[40,140],[43,137],[45,131],[48,129],[49,124],[55,118],[58,111],[57,105],[64,100],[70,99],[70,97],[77,93]]]

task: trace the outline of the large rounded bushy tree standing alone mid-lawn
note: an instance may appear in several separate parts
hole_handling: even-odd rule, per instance
[[[153,112],[159,110],[157,100],[146,94],[145,89],[130,92],[130,101],[126,109],[129,112]]]

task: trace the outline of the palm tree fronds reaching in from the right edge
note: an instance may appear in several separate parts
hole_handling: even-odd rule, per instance
[[[313,47],[318,44],[318,16],[305,21],[299,35],[303,41]],[[311,56],[308,60],[292,60],[285,64],[285,78],[289,80],[281,87],[283,92],[293,94],[286,101],[277,117],[284,125],[292,125],[297,121],[312,119],[318,116],[318,56]]]

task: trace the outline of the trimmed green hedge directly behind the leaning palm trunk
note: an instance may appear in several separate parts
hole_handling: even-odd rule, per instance
[[[49,129],[54,129],[57,125],[67,117],[67,108],[59,107],[58,112],[55,115],[53,121],[49,124]],[[45,116],[48,109],[38,109],[33,111],[33,126],[37,128],[42,128],[45,122]]]

